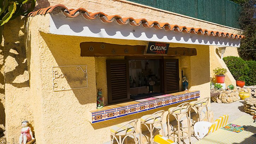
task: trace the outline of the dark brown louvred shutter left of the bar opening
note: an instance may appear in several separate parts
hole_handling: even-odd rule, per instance
[[[130,100],[128,60],[106,60],[108,104]]]

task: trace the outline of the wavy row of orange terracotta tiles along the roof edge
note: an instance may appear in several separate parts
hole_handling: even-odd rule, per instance
[[[208,35],[208,36],[215,36],[215,37],[228,37],[233,39],[244,39],[244,35],[238,35],[233,33],[225,33],[219,31],[208,31],[202,28],[194,28],[194,27],[186,27],[186,26],[178,26],[178,25],[170,25],[169,23],[165,22],[158,22],[158,21],[148,21],[147,19],[134,19],[132,17],[122,18],[120,15],[107,15],[103,12],[91,13],[88,12],[84,8],[78,9],[68,9],[64,5],[55,5],[49,6],[47,8],[38,9],[35,12],[31,12],[28,14],[28,17],[35,17],[35,15],[45,15],[47,13],[52,13],[54,9],[62,10],[68,18],[77,17],[77,15],[82,14],[86,19],[96,19],[100,17],[103,22],[113,22],[117,21],[120,25],[131,24],[132,26],[139,26],[142,25],[145,28],[154,27],[155,29],[165,29],[166,31],[175,31],[175,32],[183,32],[183,33],[191,33],[191,34],[200,34],[200,35]]]

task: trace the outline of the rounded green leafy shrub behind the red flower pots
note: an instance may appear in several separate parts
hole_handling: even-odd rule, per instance
[[[223,60],[234,79],[245,81],[246,86],[256,85],[256,61],[233,56],[224,57]]]

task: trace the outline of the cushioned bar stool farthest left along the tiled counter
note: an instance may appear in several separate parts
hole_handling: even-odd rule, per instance
[[[127,124],[119,124],[119,125],[115,125],[113,127],[111,127],[110,129],[110,137],[111,137],[111,144],[113,144],[114,138],[115,140],[117,140],[118,144],[123,144],[124,140],[125,143],[127,144],[127,139],[126,137],[128,136],[133,136],[134,140],[135,140],[135,144],[137,144],[137,138],[136,138],[136,127],[137,127],[137,122],[138,119],[132,120]],[[119,140],[117,139],[116,136],[119,136]],[[121,136],[124,136],[123,141]]]

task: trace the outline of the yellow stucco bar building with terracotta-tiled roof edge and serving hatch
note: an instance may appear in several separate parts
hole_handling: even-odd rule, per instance
[[[165,110],[166,118],[169,107],[210,97],[213,69],[227,68],[218,47],[227,47],[224,56],[237,56],[236,47],[244,37],[236,28],[124,0],[49,0],[38,8],[43,9],[4,28],[0,99],[5,108],[2,129],[10,144],[18,142],[24,119],[37,144],[96,144],[110,141],[113,125],[159,110]],[[149,42],[169,44],[168,52],[147,53]],[[172,60],[176,75],[168,77],[166,65]],[[119,68],[127,81],[116,83],[127,89],[119,90],[111,84],[118,79],[111,77],[111,64],[120,63],[125,64]],[[187,92],[182,92],[181,71],[189,81]],[[133,95],[150,91],[149,81],[155,83],[154,92],[173,94],[175,100],[132,100]],[[225,83],[235,85],[230,72]],[[102,109],[97,109],[97,89],[102,89]]]

